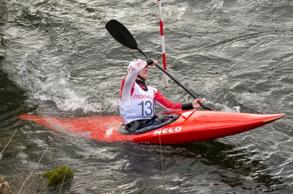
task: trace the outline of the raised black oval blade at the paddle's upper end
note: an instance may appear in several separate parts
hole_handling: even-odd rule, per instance
[[[138,50],[135,39],[122,23],[117,20],[110,20],[105,27],[116,41],[128,48]]]

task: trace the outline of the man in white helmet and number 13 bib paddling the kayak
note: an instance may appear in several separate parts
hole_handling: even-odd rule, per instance
[[[192,103],[181,104],[172,103],[167,100],[159,90],[146,86],[148,78],[147,66],[157,65],[157,60],[147,59],[146,61],[136,59],[128,65],[128,73],[121,83],[119,100],[120,115],[124,120],[126,128],[146,123],[154,117],[157,105],[166,111],[170,110],[190,110],[199,108],[202,99],[195,99]]]

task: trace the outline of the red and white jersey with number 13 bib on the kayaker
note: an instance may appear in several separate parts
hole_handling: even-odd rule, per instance
[[[128,124],[134,120],[151,119],[154,117],[157,105],[164,110],[181,110],[181,103],[172,103],[154,87],[146,86],[147,91],[142,89],[135,80],[138,74],[147,67],[145,61],[138,61],[128,68],[128,74],[121,83],[119,100],[120,116],[124,123]]]

